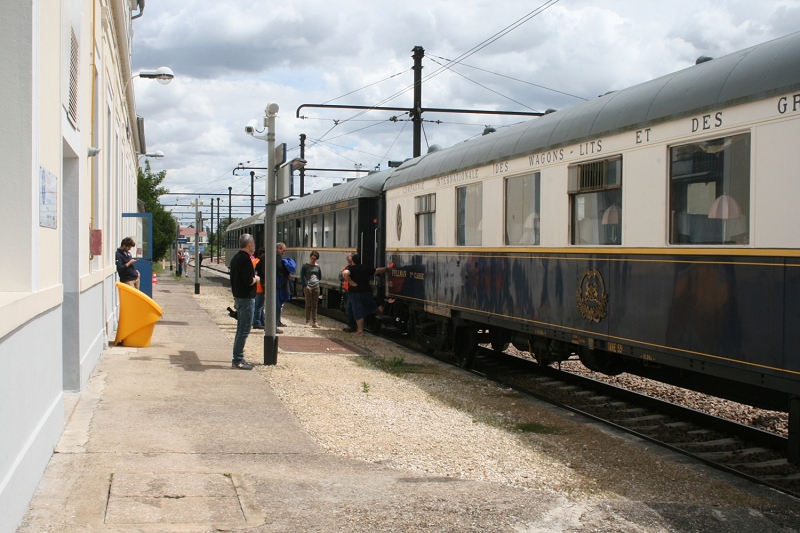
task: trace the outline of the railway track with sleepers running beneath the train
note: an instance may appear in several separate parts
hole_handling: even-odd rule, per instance
[[[227,278],[225,272],[208,270]],[[343,319],[339,311],[320,309],[320,312]],[[381,334],[410,349],[428,353],[398,330],[382,328]],[[452,354],[429,355],[458,365]],[[788,462],[787,439],[783,436],[578,374],[541,367],[535,361],[489,348],[478,348],[470,371],[713,468],[800,497],[800,465]]]

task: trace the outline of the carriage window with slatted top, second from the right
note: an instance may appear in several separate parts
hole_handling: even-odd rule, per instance
[[[572,244],[622,244],[622,157],[569,167]]]

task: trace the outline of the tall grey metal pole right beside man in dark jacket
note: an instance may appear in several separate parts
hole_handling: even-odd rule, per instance
[[[277,300],[276,300],[276,268],[275,248],[277,236],[275,235],[275,115],[278,114],[278,104],[269,103],[264,110],[267,117],[267,176],[264,191],[264,364],[275,365],[278,363],[278,336],[275,331],[277,325]]]

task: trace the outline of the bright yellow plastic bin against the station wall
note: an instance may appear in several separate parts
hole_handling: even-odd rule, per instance
[[[156,322],[164,312],[152,298],[125,283],[117,282],[119,289],[119,325],[114,344],[147,348]]]

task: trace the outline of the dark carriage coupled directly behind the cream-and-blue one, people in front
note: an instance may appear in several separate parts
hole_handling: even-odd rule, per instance
[[[373,265],[383,259],[383,202],[381,193],[389,171],[337,184],[323,191],[278,206],[278,242],[286,244],[286,257],[297,262],[292,277],[295,294],[302,295],[300,269],[312,250],[319,252],[323,305],[337,309],[342,303],[339,273],[350,252]],[[376,294],[383,293],[383,278],[375,280]]]

